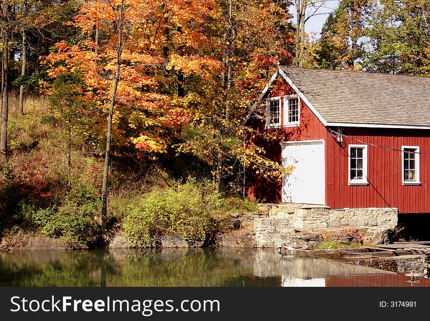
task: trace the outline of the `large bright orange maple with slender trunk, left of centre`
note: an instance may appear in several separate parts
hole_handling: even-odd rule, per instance
[[[210,0],[85,2],[71,23],[81,30],[80,39],[57,43],[47,57],[52,78],[79,71],[83,96],[103,111],[92,113],[88,141],[105,155],[105,228],[112,153],[121,146],[141,153],[165,152],[172,134],[189,118],[169,89],[172,75],[205,79],[219,72],[219,61],[196,51],[209,42],[203,26],[216,12]]]

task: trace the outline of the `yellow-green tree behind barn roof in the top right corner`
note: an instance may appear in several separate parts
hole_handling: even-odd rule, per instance
[[[366,36],[368,71],[430,73],[430,5],[422,0],[383,0],[370,12]]]

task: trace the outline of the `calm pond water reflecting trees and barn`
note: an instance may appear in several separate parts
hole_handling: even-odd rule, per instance
[[[430,286],[401,274],[276,249],[0,253],[0,286]]]

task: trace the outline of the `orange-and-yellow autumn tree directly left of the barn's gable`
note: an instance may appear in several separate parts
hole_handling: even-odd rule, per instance
[[[198,89],[189,88],[185,96],[194,116],[183,128],[185,142],[179,150],[213,166],[216,189],[226,183],[242,189],[243,166],[282,175],[280,164],[265,157],[252,139],[256,132],[244,120],[277,63],[291,64],[294,30],[287,3],[228,0],[220,8],[223,19],[214,21],[214,29],[222,32],[211,50],[223,68],[220,75],[199,80],[197,87],[189,80]]]

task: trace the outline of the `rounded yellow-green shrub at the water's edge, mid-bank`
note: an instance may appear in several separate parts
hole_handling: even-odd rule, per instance
[[[139,206],[129,206],[123,227],[130,241],[145,246],[155,235],[177,235],[204,241],[213,229],[212,217],[224,206],[221,194],[209,183],[189,179],[164,190],[154,190]]]

